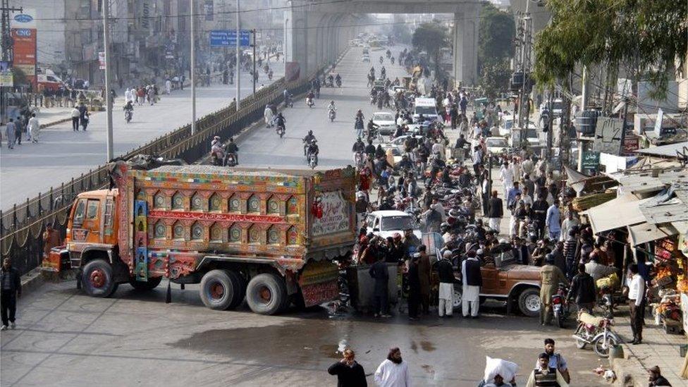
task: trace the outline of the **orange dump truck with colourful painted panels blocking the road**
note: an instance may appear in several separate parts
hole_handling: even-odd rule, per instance
[[[66,245],[45,271],[78,269],[88,295],[121,283],[150,290],[199,283],[204,305],[275,314],[338,297],[333,260],[355,242],[355,170],[161,166],[119,161],[111,189],[83,192]],[[168,285],[169,288],[169,285]]]

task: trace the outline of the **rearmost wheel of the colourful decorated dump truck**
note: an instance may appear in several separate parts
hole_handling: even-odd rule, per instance
[[[246,288],[246,302],[258,314],[280,312],[287,298],[287,287],[282,278],[274,274],[258,274]]]

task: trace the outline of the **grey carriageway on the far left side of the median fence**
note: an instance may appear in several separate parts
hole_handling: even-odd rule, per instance
[[[284,63],[271,62],[274,77],[283,76]],[[261,73],[259,82],[267,84],[267,76]],[[241,93],[252,93],[250,75],[241,78]],[[235,85],[212,83],[210,87],[196,88],[196,116],[218,111],[235,97]],[[122,99],[118,99],[118,102]],[[113,109],[114,154],[118,156],[156,137],[171,132],[191,122],[191,90],[173,91],[161,95],[154,106],[144,104],[134,107],[133,120],[124,121],[120,103]],[[73,132],[71,121],[41,130],[40,142],[22,142],[14,149],[7,149],[3,134],[0,150],[0,209],[10,209],[15,203],[47,192],[51,187],[77,178],[91,168],[106,161],[106,114],[94,113],[86,132]]]

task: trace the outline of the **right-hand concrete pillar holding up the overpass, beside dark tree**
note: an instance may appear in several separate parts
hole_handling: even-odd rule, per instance
[[[454,14],[454,78],[463,85],[478,81],[478,23],[480,8],[467,5]]]

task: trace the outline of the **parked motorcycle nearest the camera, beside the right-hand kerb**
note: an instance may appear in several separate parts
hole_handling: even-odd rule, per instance
[[[596,355],[609,357],[609,349],[621,343],[619,336],[610,328],[612,324],[613,320],[606,317],[578,312],[578,327],[572,336],[576,339],[576,347],[583,349],[590,344]]]

